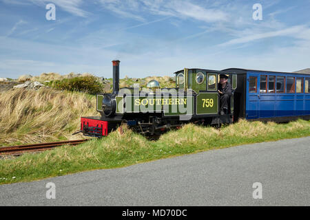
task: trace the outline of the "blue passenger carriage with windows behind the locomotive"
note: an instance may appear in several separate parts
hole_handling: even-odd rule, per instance
[[[309,74],[233,68],[223,71],[238,75],[235,120],[310,119]]]

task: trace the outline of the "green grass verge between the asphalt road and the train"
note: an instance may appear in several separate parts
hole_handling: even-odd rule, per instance
[[[62,146],[43,153],[2,159],[0,184],[31,181],[85,170],[118,168],[240,144],[304,137],[310,135],[310,121],[264,124],[241,120],[220,130],[187,124],[182,129],[165,133],[157,141],[149,141],[126,126],[123,131],[123,134],[114,131],[108,137],[90,140],[79,146]]]

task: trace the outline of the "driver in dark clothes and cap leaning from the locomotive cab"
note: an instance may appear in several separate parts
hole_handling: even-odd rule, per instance
[[[220,83],[218,83],[218,94],[220,94],[220,115],[228,113],[228,103],[231,97],[231,85],[228,76],[220,74]]]

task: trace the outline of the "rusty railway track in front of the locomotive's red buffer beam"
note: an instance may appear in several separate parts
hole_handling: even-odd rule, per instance
[[[28,144],[28,145],[21,145],[21,146],[4,146],[0,147],[0,155],[21,155],[23,153],[28,152],[37,152],[37,151],[46,151],[50,150],[51,148],[55,148],[56,146],[63,146],[63,145],[77,145],[83,142],[86,142],[87,139],[84,140],[68,140],[63,142],[50,142],[44,144]]]

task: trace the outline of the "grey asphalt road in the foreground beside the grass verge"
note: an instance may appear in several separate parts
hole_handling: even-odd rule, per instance
[[[56,199],[46,198],[48,182]],[[310,206],[310,137],[3,185],[0,205]]]

